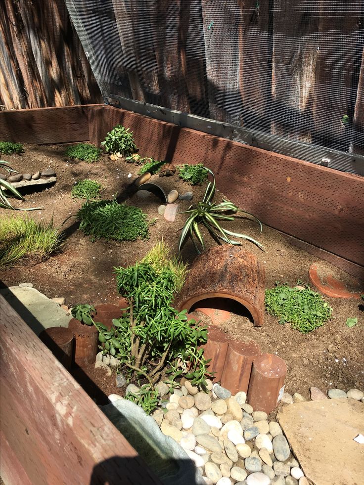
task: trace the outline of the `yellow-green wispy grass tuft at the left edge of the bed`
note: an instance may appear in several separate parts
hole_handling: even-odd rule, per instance
[[[20,259],[41,262],[62,244],[62,234],[50,222],[29,217],[3,217],[0,224],[0,268],[14,265]]]

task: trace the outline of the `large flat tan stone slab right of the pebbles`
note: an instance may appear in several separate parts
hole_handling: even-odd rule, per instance
[[[364,403],[354,399],[298,402],[278,415],[293,453],[315,485],[364,483]]]

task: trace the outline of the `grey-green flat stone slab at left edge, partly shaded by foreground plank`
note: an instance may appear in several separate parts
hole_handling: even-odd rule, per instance
[[[35,288],[10,286],[2,289],[1,294],[37,335],[45,328],[68,327],[72,318]]]

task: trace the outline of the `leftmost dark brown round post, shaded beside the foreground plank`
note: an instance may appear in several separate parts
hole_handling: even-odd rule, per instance
[[[73,331],[66,327],[49,327],[39,334],[39,338],[60,363],[69,370],[74,345]]]

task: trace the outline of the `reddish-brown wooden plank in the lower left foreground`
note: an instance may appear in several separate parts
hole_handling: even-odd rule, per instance
[[[5,484],[159,484],[2,296],[0,309],[0,474]]]

